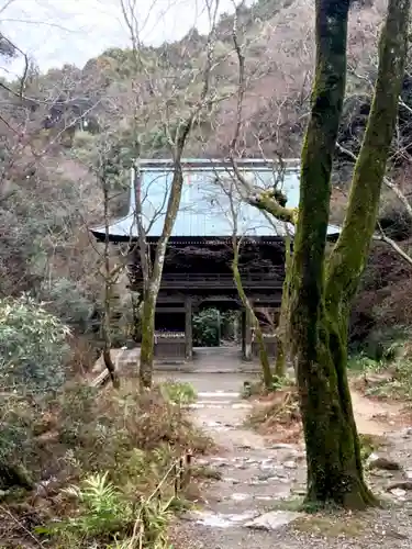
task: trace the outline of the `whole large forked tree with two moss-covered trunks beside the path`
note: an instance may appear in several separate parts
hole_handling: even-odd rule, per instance
[[[331,169],[346,74],[349,2],[316,1],[316,74],[302,152],[290,329],[307,444],[309,502],[374,504],[346,376],[350,301],[367,259],[403,78],[410,0],[389,0],[376,92],[347,215],[327,265]]]

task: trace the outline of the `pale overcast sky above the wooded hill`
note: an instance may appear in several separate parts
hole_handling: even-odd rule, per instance
[[[141,36],[146,44],[180,38],[193,26],[208,32],[205,0],[124,1],[138,5]],[[233,12],[233,1],[219,0],[219,12]],[[34,57],[42,70],[65,63],[81,67],[108,47],[125,47],[130,43],[120,2],[0,0],[0,31]],[[19,64],[8,70],[16,72]]]

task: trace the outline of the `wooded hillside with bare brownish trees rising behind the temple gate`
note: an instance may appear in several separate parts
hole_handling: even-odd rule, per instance
[[[385,0],[365,0],[356,3],[350,14],[347,98],[339,141],[355,154],[369,110],[383,12]],[[247,86],[240,154],[299,156],[314,63],[313,19],[314,0],[258,0],[250,9],[241,11],[238,40],[244,48]],[[227,154],[238,91],[232,31],[233,15],[223,16],[210,82],[218,98],[227,99],[216,101],[200,114],[185,156]],[[143,48],[137,64],[133,52],[109,48],[82,68],[64,66],[41,74],[31,67],[23,101],[16,97],[19,82],[0,88],[3,294],[33,289],[79,334],[90,332],[90,318],[96,318],[101,307],[101,256],[90,240],[88,227],[102,219],[102,192],[91,168],[102,150],[104,155],[110,153],[110,161],[114,163],[114,155],[118,165],[125,167],[125,159],[134,155],[131,142],[136,132],[142,155],[169,156],[163,123],[166,119],[174,131],[199,99],[204,59],[205,37],[193,30],[177,43]],[[400,108],[392,158],[392,167],[398,170],[393,173],[403,176],[405,192],[410,187],[407,168],[412,143],[412,80],[408,75],[402,94],[407,108]],[[347,156],[338,154],[336,159],[335,179],[342,184],[334,190],[333,221],[343,217],[345,183],[352,169]],[[119,215],[126,205],[122,183],[118,181],[111,189],[112,215]],[[386,193],[383,210],[389,225],[393,219],[396,225],[402,216],[391,194]],[[403,228],[407,225],[411,224],[403,222]],[[398,239],[409,236],[401,232]],[[382,269],[387,261],[399,261],[396,256],[377,256],[383,261]],[[369,271],[366,278],[383,280],[380,267],[378,273],[375,267],[374,274]],[[393,279],[390,272],[386,273],[387,288],[409,278],[409,269],[403,266],[394,270],[398,274]],[[403,278],[399,278],[399,272]],[[122,288],[121,293],[126,295],[124,284]],[[370,284],[366,289],[370,292]],[[370,312],[368,300],[370,293],[365,300]],[[387,299],[385,303],[388,306]],[[397,307],[392,304],[391,311]],[[379,315],[378,311],[374,326],[386,322]],[[392,313],[389,316],[391,325],[398,322]],[[364,322],[361,311],[358,318]]]

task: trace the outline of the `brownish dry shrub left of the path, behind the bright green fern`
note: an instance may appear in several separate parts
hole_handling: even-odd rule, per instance
[[[204,452],[211,445],[160,388],[140,394],[131,384],[113,393],[73,383],[49,403],[49,410],[52,421],[41,438],[55,467],[67,467],[69,461],[80,477],[109,471],[111,481],[130,485],[135,495],[155,482],[174,457],[188,449]],[[53,441],[47,433],[54,434]],[[142,474],[147,468],[152,477]]]

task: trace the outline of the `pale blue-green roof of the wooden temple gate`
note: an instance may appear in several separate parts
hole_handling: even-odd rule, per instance
[[[272,160],[243,159],[238,169],[249,189],[269,189],[279,178],[279,164]],[[245,189],[238,183],[232,165],[222,160],[185,159],[183,188],[179,212],[171,236],[175,237],[226,237],[232,236],[234,221],[236,233],[247,236],[285,236],[293,227],[288,227],[264,212],[247,204]],[[147,236],[162,234],[165,210],[172,179],[172,164],[168,160],[141,160],[136,166],[142,181],[142,210]],[[132,170],[130,205],[126,216],[111,224],[111,239],[135,238],[134,221],[135,190]],[[278,188],[287,197],[287,206],[299,204],[299,163],[288,160],[282,169]],[[92,231],[96,236],[104,234],[104,227]],[[338,233],[338,227],[329,227],[330,234]]]

